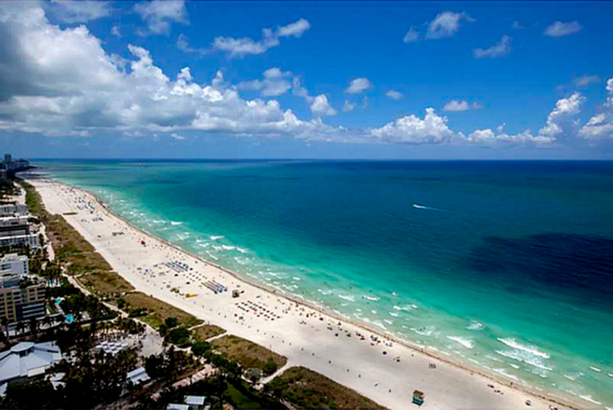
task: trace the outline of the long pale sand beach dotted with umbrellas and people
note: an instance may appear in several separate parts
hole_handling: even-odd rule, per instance
[[[511,380],[494,380],[477,374],[476,370],[422,353],[418,348],[396,341],[390,347],[389,339],[373,343],[371,330],[248,284],[228,271],[148,236],[108,212],[91,194],[49,180],[33,179],[30,183],[40,192],[48,212],[77,212],[65,216],[70,225],[138,291],[283,354],[289,366],[313,369],[390,409],[417,409],[410,403],[415,389],[426,393],[423,409],[520,409],[528,408],[526,400],[531,400],[532,408],[548,409],[549,405],[563,408],[531,394],[527,387],[509,387]],[[124,234],[113,236],[113,232]],[[144,246],[141,240],[145,241]],[[161,265],[174,260],[193,270],[177,273]],[[215,295],[202,286],[207,280],[227,286],[229,291]],[[172,292],[172,288],[178,288],[182,295]],[[233,298],[233,289],[244,293]],[[186,298],[187,293],[195,293],[196,297]],[[272,312],[269,317],[275,319],[237,307],[247,302],[268,309]],[[360,340],[356,332],[365,335],[366,340]],[[430,368],[430,363],[436,367]],[[553,399],[569,402],[566,397]]]

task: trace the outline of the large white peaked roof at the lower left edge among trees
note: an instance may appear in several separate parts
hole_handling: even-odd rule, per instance
[[[22,342],[10,350],[0,352],[0,383],[20,377],[43,374],[47,367],[62,358],[55,342],[34,344]]]

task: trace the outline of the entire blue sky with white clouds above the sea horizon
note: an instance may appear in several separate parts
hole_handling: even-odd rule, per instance
[[[3,2],[0,146],[30,158],[610,159],[612,12]]]

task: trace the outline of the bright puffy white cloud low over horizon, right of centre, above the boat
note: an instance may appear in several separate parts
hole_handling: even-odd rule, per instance
[[[442,144],[455,136],[447,125],[447,118],[440,117],[432,108],[426,109],[424,119],[408,115],[371,129],[369,134],[384,144]]]

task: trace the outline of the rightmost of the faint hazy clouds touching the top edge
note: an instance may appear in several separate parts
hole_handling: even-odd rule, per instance
[[[136,3],[135,12],[147,23],[148,30],[141,35],[170,33],[170,23],[189,23],[184,0],[152,0]]]

